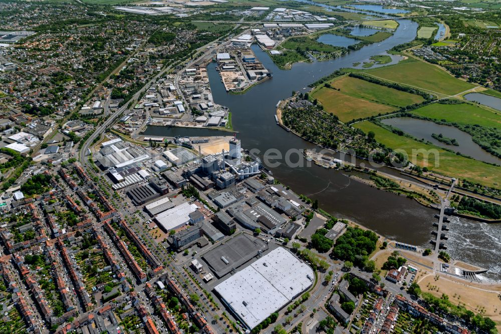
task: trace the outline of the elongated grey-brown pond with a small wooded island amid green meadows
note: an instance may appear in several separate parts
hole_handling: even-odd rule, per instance
[[[501,159],[484,151],[471,139],[471,136],[468,133],[453,126],[439,125],[431,121],[411,117],[383,119],[382,123],[399,128],[418,139],[423,138],[424,140],[432,142],[436,146],[452,149],[455,152],[461,152],[462,154],[469,155],[480,161],[501,164]],[[459,143],[459,146],[447,145],[433,138],[431,136],[432,133],[441,133],[444,137],[451,139],[454,138]]]

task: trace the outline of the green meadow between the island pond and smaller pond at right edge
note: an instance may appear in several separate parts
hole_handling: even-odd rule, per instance
[[[458,124],[478,124],[480,126],[501,129],[501,114],[475,104],[433,103],[415,109],[412,113],[438,120],[444,119],[447,122],[455,122]]]

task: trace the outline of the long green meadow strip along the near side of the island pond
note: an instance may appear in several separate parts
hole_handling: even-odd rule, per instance
[[[480,183],[489,187],[498,187],[501,184],[501,168],[475,159],[466,158],[455,153],[446,151],[440,147],[416,141],[406,136],[399,136],[369,121],[354,124],[365,133],[373,131],[375,139],[392,149],[404,150],[411,162],[435,172],[443,173],[452,177],[460,177],[473,183]],[[438,161],[435,166],[435,155],[423,153],[417,150],[438,152]]]

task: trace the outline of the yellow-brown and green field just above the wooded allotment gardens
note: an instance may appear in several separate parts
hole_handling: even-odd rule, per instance
[[[329,84],[332,88],[319,87],[313,91],[312,97],[322,103],[325,111],[335,114],[343,122],[384,114],[424,101],[419,95],[348,76]]]

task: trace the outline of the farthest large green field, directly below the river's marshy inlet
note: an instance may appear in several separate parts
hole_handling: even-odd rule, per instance
[[[454,78],[438,66],[415,59],[367,70],[366,73],[380,79],[443,95],[455,95],[475,87],[473,84]]]

